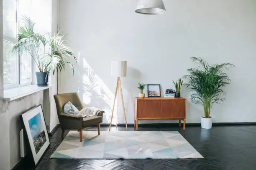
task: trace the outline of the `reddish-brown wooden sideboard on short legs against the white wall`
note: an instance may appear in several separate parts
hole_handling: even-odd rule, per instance
[[[186,99],[164,97],[135,97],[134,127],[138,130],[138,120],[183,120],[186,129]]]

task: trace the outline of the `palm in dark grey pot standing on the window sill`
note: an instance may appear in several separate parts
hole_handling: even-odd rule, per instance
[[[49,72],[62,72],[66,64],[71,66],[74,74],[74,67],[68,58],[71,57],[77,62],[77,58],[73,55],[73,51],[64,44],[62,40],[66,35],[56,34],[53,37],[50,35],[42,35],[34,31],[33,21],[23,16],[23,27],[18,30],[18,44],[13,47],[13,52],[18,52],[22,57],[23,52],[27,52],[39,72],[36,72],[38,86],[47,86]]]

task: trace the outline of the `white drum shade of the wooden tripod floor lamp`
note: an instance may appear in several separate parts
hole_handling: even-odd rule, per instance
[[[111,76],[125,77],[127,61],[111,61]]]

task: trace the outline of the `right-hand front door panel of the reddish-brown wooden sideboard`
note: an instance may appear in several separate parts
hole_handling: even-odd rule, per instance
[[[185,117],[186,100],[161,100],[160,117]]]

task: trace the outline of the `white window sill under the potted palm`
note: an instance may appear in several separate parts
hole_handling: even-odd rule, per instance
[[[49,86],[46,87],[38,87],[37,85],[26,85],[23,87],[16,87],[12,89],[4,90],[4,100],[8,100],[8,102],[19,99],[21,97],[31,95],[35,92],[39,92],[41,90],[49,89]]]

